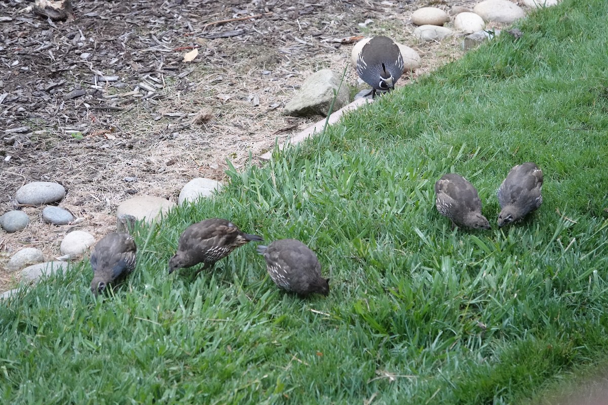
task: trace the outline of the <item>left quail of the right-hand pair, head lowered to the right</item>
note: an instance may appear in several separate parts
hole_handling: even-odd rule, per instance
[[[482,215],[482,201],[477,190],[464,177],[444,174],[435,183],[435,194],[437,210],[452,220],[452,229],[455,225],[490,229],[488,220]]]

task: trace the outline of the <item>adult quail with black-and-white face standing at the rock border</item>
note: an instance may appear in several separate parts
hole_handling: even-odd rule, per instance
[[[375,36],[362,47],[357,58],[357,74],[361,80],[376,90],[388,91],[403,73],[403,57],[399,46],[387,36]]]

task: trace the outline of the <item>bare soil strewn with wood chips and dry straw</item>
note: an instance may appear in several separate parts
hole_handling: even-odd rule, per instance
[[[277,138],[318,120],[285,117],[282,107],[311,73],[347,66],[352,44],[341,39],[388,35],[415,49],[423,67],[404,86],[461,55],[458,35],[415,39],[411,13],[474,4],[83,0],[73,18],[54,22],[32,2],[0,0],[0,214],[21,209],[32,220],[0,231],[0,291],[16,282],[5,265],[21,248],[53,260],[72,230],[97,239],[113,231],[123,200],[176,201],[189,180],[224,180],[227,159],[238,167],[251,154],[258,164]],[[352,67],[347,83],[357,85]],[[48,225],[43,207],[19,205],[15,191],[33,181],[61,183],[59,205],[77,220]]]

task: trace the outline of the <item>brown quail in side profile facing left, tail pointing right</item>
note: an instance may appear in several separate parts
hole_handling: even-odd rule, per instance
[[[169,260],[169,273],[199,263],[205,264],[199,271],[210,268],[219,259],[252,240],[264,239],[241,232],[237,225],[226,219],[212,218],[194,223],[179,237],[178,251]]]

